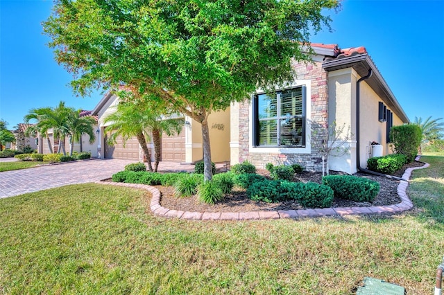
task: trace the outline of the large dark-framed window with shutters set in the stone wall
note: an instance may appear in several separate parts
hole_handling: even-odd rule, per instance
[[[253,145],[305,147],[305,87],[254,97]]]

